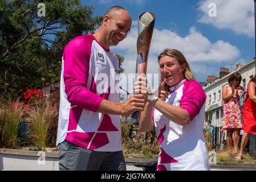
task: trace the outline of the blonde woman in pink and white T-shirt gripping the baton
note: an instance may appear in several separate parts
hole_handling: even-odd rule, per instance
[[[165,49],[159,55],[159,65],[162,83],[158,98],[150,96],[148,84],[141,86],[146,85],[145,78],[139,77],[134,86],[147,100],[140,114],[140,130],[155,127],[161,143],[157,170],[209,170],[203,134],[206,94],[194,81],[180,51]]]

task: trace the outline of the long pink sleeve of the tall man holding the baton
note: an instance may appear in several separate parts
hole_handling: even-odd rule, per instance
[[[79,36],[67,45],[63,53],[63,78],[67,100],[71,105],[97,111],[103,98],[87,89],[91,44],[92,41]]]

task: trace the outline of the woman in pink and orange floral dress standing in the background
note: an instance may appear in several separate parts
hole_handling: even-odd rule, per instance
[[[235,72],[229,77],[229,83],[222,87],[222,99],[225,101],[222,125],[223,128],[227,130],[226,142],[231,156],[237,155],[239,133],[242,129],[242,107],[239,106],[239,97],[243,91],[242,86],[240,86],[241,80],[241,75]],[[233,150],[232,140],[234,146]]]

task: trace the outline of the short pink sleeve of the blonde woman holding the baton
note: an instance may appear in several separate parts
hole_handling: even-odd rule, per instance
[[[206,100],[206,94],[197,81],[186,81],[180,107],[188,111],[192,120],[201,110]]]

